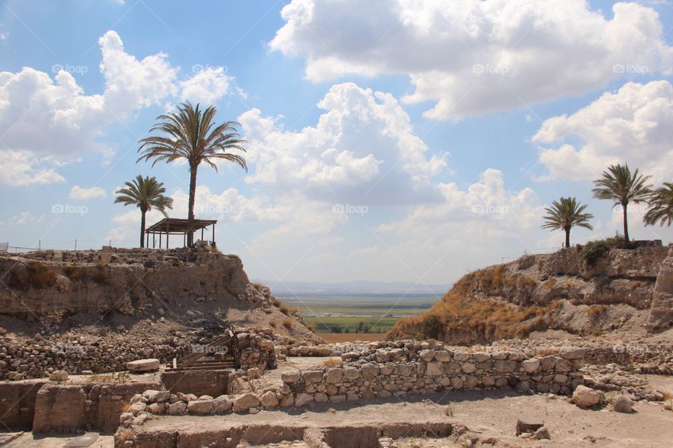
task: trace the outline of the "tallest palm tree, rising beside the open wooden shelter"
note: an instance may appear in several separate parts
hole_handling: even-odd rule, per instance
[[[140,160],[147,162],[154,159],[152,167],[157,162],[173,162],[178,159],[185,159],[189,164],[189,227],[194,221],[194,198],[196,196],[196,172],[198,165],[205,162],[215,168],[217,165],[214,160],[223,159],[245,169],[247,165],[242,155],[232,154],[227,151],[238,150],[245,153],[243,144],[245,140],[240,139],[236,132],[236,127],[240,126],[235,121],[226,121],[221,125],[216,125],[214,121],[217,109],[215,106],[208,106],[205,111],[193,107],[190,102],[185,102],[177,106],[177,112],[167,113],[158,116],[158,122],[149,132],[159,131],[163,135],[147,137],[140,140],[141,153]],[[187,234],[187,244],[193,243],[193,232]]]

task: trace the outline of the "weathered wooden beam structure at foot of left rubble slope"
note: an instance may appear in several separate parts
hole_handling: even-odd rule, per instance
[[[173,362],[166,366],[166,371],[222,370],[238,367],[240,364],[238,363],[236,336],[231,330],[227,330],[224,335],[202,349],[179,359],[173,358]]]

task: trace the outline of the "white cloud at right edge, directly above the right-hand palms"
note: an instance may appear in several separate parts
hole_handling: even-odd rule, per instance
[[[563,143],[577,139],[578,145]],[[673,86],[665,80],[627,83],[571,116],[545,120],[533,142],[543,145],[540,162],[551,178],[595,179],[608,165],[628,162],[656,181],[669,180]]]

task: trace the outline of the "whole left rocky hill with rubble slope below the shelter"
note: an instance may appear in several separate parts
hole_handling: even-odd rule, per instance
[[[39,251],[0,257],[0,379],[170,360],[229,325],[322,342],[243,262],[210,248]],[[60,366],[64,368],[63,366]]]

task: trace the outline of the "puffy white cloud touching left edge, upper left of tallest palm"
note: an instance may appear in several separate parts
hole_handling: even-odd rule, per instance
[[[85,94],[67,67],[58,64],[53,78],[30,67],[18,73],[0,72],[0,182],[63,181],[45,162],[90,151],[109,161],[111,149],[97,141],[107,125],[166,99],[216,101],[233,83],[222,67],[181,80],[179,69],[164,53],[137,59],[125,52],[115,31],[107,31],[98,43],[105,80],[102,94]]]

